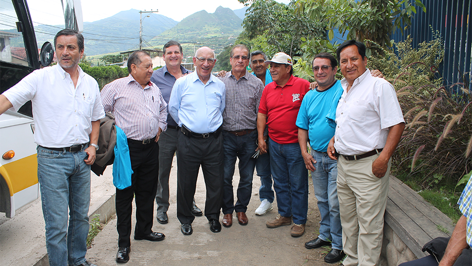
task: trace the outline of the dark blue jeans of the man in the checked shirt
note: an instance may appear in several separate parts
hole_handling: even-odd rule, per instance
[[[224,182],[223,182],[223,214],[246,212],[251,200],[252,175],[254,174],[255,161],[251,158],[254,154],[258,131],[254,130],[243,136],[235,136],[223,130],[224,147]],[[233,175],[236,158],[239,158],[239,184],[237,190],[238,201],[234,204]]]

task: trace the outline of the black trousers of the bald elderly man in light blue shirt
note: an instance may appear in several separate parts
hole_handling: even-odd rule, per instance
[[[219,219],[223,199],[223,137],[197,139],[177,135],[177,218],[181,224],[191,224],[191,213],[200,166],[205,179],[207,219]]]

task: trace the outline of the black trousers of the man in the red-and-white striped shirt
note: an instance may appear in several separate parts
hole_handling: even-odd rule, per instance
[[[135,235],[143,236],[152,232],[158,181],[159,145],[156,142],[137,144],[128,140],[128,147],[133,169],[131,187],[116,189],[118,247],[131,246],[133,196],[136,202]]]

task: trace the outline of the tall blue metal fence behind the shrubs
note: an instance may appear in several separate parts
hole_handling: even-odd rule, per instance
[[[423,41],[433,39],[433,32],[439,31],[444,40],[444,61],[439,66],[445,84],[465,83],[472,88],[472,0],[422,0],[426,13],[417,8],[412,26],[403,35],[400,30],[392,39],[405,40],[411,35],[412,45],[417,48]],[[414,2],[414,1],[412,1]],[[431,27],[430,27],[431,26]],[[468,85],[467,85],[468,84]],[[458,86],[452,90],[459,92]]]

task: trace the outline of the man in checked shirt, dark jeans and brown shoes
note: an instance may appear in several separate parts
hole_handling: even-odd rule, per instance
[[[223,147],[224,147],[224,185],[223,185],[223,226],[232,225],[233,211],[238,223],[246,225],[247,205],[252,193],[252,175],[255,160],[252,154],[258,148],[256,130],[259,102],[264,84],[247,72],[249,49],[245,45],[236,45],[231,49],[231,71],[219,77],[226,87],[226,107],[223,112]],[[233,199],[233,174],[236,158],[239,158],[240,181],[238,200]]]

